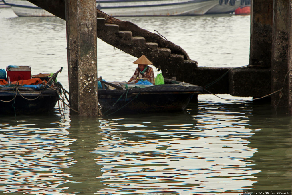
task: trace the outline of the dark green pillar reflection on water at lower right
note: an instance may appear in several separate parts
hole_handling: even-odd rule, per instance
[[[258,152],[247,159],[250,167],[259,170],[256,189],[292,189],[292,139],[291,116],[273,117],[260,113],[253,115],[250,123],[254,135],[249,147]],[[277,181],[277,182],[276,182]]]

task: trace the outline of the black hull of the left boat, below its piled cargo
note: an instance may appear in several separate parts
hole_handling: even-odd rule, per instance
[[[61,86],[0,85],[1,115],[27,115],[51,111],[61,94]]]

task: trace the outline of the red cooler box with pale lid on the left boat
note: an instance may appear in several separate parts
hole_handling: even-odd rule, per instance
[[[31,74],[30,66],[6,67],[7,81],[8,77],[10,82],[19,80],[29,80]]]

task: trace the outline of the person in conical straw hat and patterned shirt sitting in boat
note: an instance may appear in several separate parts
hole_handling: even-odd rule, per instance
[[[135,80],[135,83],[138,82],[139,79],[147,79],[149,82],[154,84],[154,72],[153,68],[148,66],[152,65],[152,62],[146,58],[145,55],[142,55],[138,60],[133,62],[133,64],[138,64],[138,68],[135,70],[134,75],[130,78],[128,83],[132,83]]]

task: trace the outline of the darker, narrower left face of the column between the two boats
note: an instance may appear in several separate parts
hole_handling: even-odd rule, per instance
[[[77,0],[65,0],[70,107],[78,111]],[[74,113],[70,110],[70,113]]]

